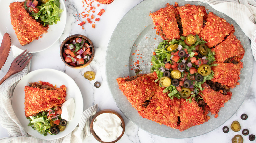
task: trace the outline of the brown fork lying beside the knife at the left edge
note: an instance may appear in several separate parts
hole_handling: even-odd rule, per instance
[[[27,50],[23,51],[18,57],[16,57],[14,59],[14,61],[11,63],[11,66],[9,68],[9,70],[7,71],[6,75],[1,79],[0,81],[0,85],[11,75],[20,72],[21,70],[23,70],[25,68],[25,66],[29,63],[29,61],[31,60],[32,56],[29,57],[31,55],[31,53],[28,55],[29,51],[24,54]],[[23,55],[24,54],[24,55]],[[21,57],[22,56],[22,57]]]

